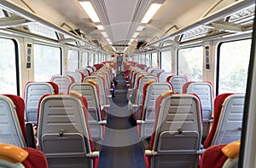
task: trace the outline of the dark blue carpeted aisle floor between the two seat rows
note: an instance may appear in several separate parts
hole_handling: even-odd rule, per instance
[[[124,76],[117,76],[115,97],[109,109],[108,124],[98,168],[143,168],[143,145],[137,128],[128,122],[128,100]]]

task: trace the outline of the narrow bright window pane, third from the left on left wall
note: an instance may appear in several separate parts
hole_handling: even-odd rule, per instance
[[[67,53],[67,71],[79,69],[79,51],[68,49]]]

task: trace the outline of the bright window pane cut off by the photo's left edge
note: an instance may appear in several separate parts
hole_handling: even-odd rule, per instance
[[[0,38],[0,94],[17,95],[15,43]]]

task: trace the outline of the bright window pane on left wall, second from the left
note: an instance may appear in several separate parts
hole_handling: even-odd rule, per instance
[[[61,49],[34,44],[34,80],[47,82],[55,74],[61,74]]]

